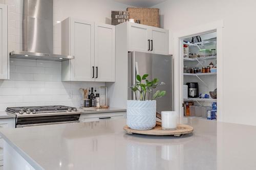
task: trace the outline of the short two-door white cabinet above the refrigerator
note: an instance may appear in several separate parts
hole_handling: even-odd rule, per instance
[[[128,29],[128,50],[130,52],[145,52],[168,54],[168,30],[125,22]]]

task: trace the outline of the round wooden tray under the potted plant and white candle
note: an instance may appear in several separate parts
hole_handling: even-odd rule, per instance
[[[159,124],[157,124],[153,129],[150,130],[135,130],[129,128],[127,125],[123,127],[123,130],[125,130],[128,134],[144,134],[144,135],[174,135],[174,136],[180,136],[182,134],[187,134],[193,132],[193,127],[184,125],[184,124],[178,124],[176,130],[163,130]]]

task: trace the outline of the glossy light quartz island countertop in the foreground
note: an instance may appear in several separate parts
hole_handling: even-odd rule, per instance
[[[193,134],[126,134],[126,119],[0,132],[35,169],[256,169],[256,126],[184,121]]]

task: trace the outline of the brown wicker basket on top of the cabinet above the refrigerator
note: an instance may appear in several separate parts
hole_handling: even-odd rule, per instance
[[[160,27],[158,8],[127,8],[129,18],[147,26]]]

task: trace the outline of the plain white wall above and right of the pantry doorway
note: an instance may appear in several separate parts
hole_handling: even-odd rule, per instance
[[[168,0],[154,6],[160,8],[162,27],[172,33],[211,21],[224,21],[224,122],[256,125],[255,6],[253,0]]]

